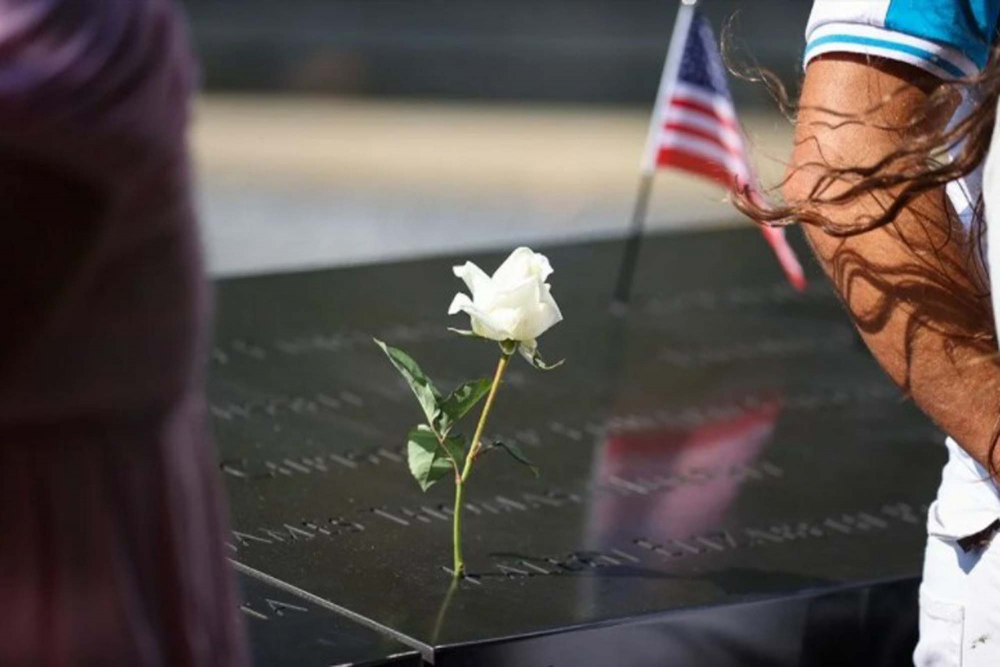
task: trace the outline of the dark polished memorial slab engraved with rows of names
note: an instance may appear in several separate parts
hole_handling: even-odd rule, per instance
[[[518,360],[490,429],[542,477],[500,455],[476,469],[474,576],[455,588],[452,489],[410,478],[419,408],[370,342],[406,349],[439,386],[488,375],[495,347],[445,331],[465,324],[445,315],[455,262],[219,283],[210,394],[233,558],[440,664],[705,657],[680,644],[732,664],[825,664],[808,656],[836,627],[816,621],[830,609],[854,631],[881,627],[859,619],[897,581],[896,611],[912,608],[940,436],[821,280],[795,294],[754,230],[652,238],[616,318],[620,244],[546,252],[566,321],[542,350],[567,363]]]

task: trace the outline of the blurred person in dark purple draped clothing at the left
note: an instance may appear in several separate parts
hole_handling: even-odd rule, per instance
[[[0,0],[0,665],[247,664],[172,0]]]

